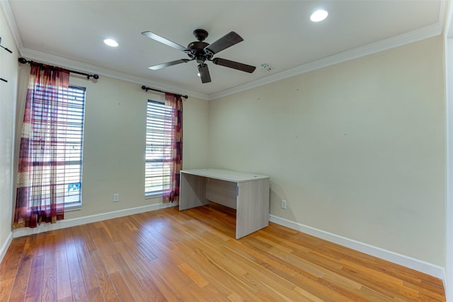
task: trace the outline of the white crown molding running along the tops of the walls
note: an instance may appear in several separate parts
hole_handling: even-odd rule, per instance
[[[396,35],[394,37],[389,37],[387,39],[371,43],[369,45],[364,45],[361,47],[357,47],[352,50],[347,50],[345,52],[340,52],[338,54],[333,54],[329,57],[324,57],[322,59],[315,60],[313,62],[307,62],[305,64],[296,66],[291,69],[287,69],[285,71],[281,71],[277,74],[272,74],[270,76],[266,76],[265,78],[258,79],[256,81],[251,81],[245,83],[243,85],[239,85],[233,88],[226,89],[224,91],[220,91],[218,93],[212,93],[210,95],[206,95],[203,93],[197,93],[195,91],[187,91],[185,89],[181,89],[176,86],[171,86],[165,83],[160,83],[157,81],[152,81],[149,79],[145,79],[139,76],[133,76],[132,74],[125,74],[120,71],[114,71],[111,69],[105,69],[101,66],[96,66],[92,64],[86,64],[84,62],[79,62],[72,59],[67,59],[64,57],[58,57],[54,54],[47,54],[44,52],[38,52],[35,50],[30,50],[22,45],[21,37],[18,33],[18,29],[16,27],[16,22],[13,17],[13,13],[11,11],[11,7],[9,6],[9,2],[6,0],[0,0],[0,4],[3,7],[4,13],[6,15],[6,19],[8,21],[8,25],[11,28],[13,33],[13,38],[16,41],[16,46],[23,57],[27,57],[28,59],[35,59],[38,61],[46,62],[48,64],[58,64],[60,66],[81,70],[83,69],[85,72],[92,72],[96,74],[100,74],[103,76],[108,76],[113,79],[120,79],[123,81],[129,81],[132,83],[139,83],[140,85],[146,86],[153,86],[154,88],[158,88],[164,91],[171,91],[173,93],[180,93],[180,94],[187,94],[194,98],[200,98],[202,100],[214,100],[217,98],[222,98],[227,95],[232,95],[234,93],[239,93],[242,91],[247,91],[252,88],[257,88],[259,86],[266,85],[268,83],[273,83],[275,81],[280,81],[282,79],[287,79],[292,76],[297,76],[299,74],[305,74],[309,71],[314,71],[316,69],[321,69],[323,67],[331,66],[334,64],[347,62],[352,59],[358,59],[360,57],[365,57],[369,54],[374,54],[377,52],[382,52],[385,50],[390,50],[395,47],[400,47],[403,45],[408,45],[413,42],[418,42],[421,40],[428,39],[430,37],[435,37],[437,35],[442,34],[442,30],[445,26],[446,30],[448,30],[451,26],[449,23],[452,22],[450,16],[445,16],[449,13],[449,5],[447,5],[447,1],[440,1],[440,9],[439,9],[439,21],[433,25],[428,25],[424,28],[419,28],[418,30],[412,30],[408,33],[403,33],[402,35]],[[447,24],[445,24],[447,23]],[[453,26],[453,25],[452,25]],[[449,33],[447,33],[449,34]],[[450,33],[451,34],[451,33]],[[93,67],[95,69],[93,69]]]

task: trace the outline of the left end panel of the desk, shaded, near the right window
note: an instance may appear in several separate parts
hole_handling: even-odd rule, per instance
[[[206,179],[186,173],[180,174],[179,210],[209,204],[206,199]]]

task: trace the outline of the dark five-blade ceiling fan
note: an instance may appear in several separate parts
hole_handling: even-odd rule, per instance
[[[157,70],[168,66],[187,63],[195,60],[198,63],[198,71],[200,72],[200,78],[202,83],[209,83],[211,81],[210,70],[207,67],[206,61],[210,61],[216,65],[225,66],[240,71],[245,71],[250,74],[256,69],[255,66],[230,61],[228,59],[222,59],[218,57],[213,58],[214,54],[217,54],[222,50],[225,50],[226,48],[236,45],[237,43],[243,41],[243,38],[237,33],[234,33],[234,31],[227,33],[219,40],[209,44],[207,42],[203,42],[208,35],[206,30],[202,29],[194,30],[193,35],[195,35],[197,41],[191,42],[187,47],[183,47],[175,42],[167,40],[164,37],[161,37],[160,35],[151,33],[150,31],[144,31],[142,35],[150,37],[151,39],[156,40],[158,42],[164,43],[165,45],[168,45],[170,47],[176,48],[177,50],[180,50],[187,54],[188,57],[190,58],[190,59],[178,59],[176,61],[154,65],[149,67],[149,69]]]

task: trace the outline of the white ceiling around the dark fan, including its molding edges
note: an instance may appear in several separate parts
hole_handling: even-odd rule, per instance
[[[1,0],[23,57],[113,76],[200,98],[214,98],[352,57],[440,35],[442,0],[333,1],[79,1]],[[316,8],[328,11],[309,21]],[[149,66],[187,58],[144,37],[149,30],[186,46],[193,30],[212,43],[231,30],[243,42],[216,54],[256,66],[253,74],[208,62],[211,83],[197,63],[153,71]],[[103,44],[105,38],[120,43]],[[265,71],[261,64],[273,69]]]

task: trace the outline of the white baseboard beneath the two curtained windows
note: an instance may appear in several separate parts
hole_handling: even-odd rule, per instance
[[[118,218],[127,215],[144,213],[147,211],[156,211],[158,209],[165,209],[169,207],[178,206],[178,202],[168,202],[165,204],[149,204],[143,207],[135,207],[131,209],[123,209],[118,211],[110,211],[108,213],[95,214],[90,216],[84,216],[74,219],[63,219],[57,221],[57,223],[42,223],[37,228],[17,228],[13,230],[13,238],[28,236],[32,234],[38,234],[42,232],[58,230],[59,228],[69,228],[71,226],[80,226],[86,223],[92,223],[96,221],[103,221],[107,219]]]

